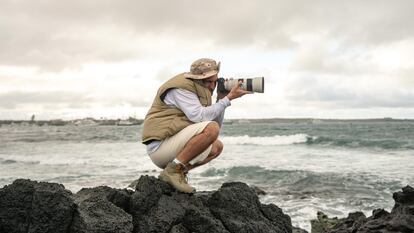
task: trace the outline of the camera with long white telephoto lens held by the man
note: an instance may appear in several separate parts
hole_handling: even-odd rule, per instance
[[[239,85],[240,88],[246,91],[264,93],[264,77],[256,77],[256,78],[241,78],[241,79],[224,79],[219,78],[217,80],[217,90],[220,92],[228,92],[230,91],[235,85]]]

